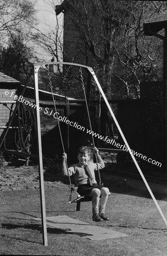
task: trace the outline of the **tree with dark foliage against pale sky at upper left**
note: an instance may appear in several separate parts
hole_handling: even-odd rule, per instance
[[[2,72],[24,83],[30,73],[33,53],[26,45],[32,25],[36,23],[35,2],[1,0],[0,68]]]

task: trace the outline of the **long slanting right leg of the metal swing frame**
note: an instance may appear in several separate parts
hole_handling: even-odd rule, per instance
[[[99,81],[98,81],[97,77],[95,76],[95,73],[94,73],[93,69],[92,69],[92,68],[88,68],[88,69],[89,69],[90,73],[93,75],[93,78],[94,78],[95,82],[97,83],[97,86],[98,86],[98,88],[99,88],[99,90],[100,90],[100,92],[101,92],[101,94],[102,94],[102,96],[103,96],[103,99],[104,99],[105,102],[106,102],[106,105],[107,105],[107,107],[108,107],[108,110],[110,111],[111,116],[112,116],[112,118],[113,118],[114,121],[115,121],[115,124],[116,124],[116,126],[117,126],[117,128],[118,128],[118,130],[119,130],[119,133],[120,133],[120,135],[122,136],[123,141],[124,141],[124,143],[126,144],[126,146],[127,146],[127,148],[128,148],[128,151],[130,152],[130,155],[131,155],[131,157],[132,157],[132,160],[133,160],[133,162],[135,163],[135,165],[136,165],[136,167],[137,167],[137,170],[139,171],[139,173],[140,173],[140,175],[141,175],[141,178],[143,179],[143,181],[144,181],[144,183],[145,183],[145,185],[146,185],[146,187],[147,187],[147,189],[148,189],[148,191],[149,191],[149,193],[150,193],[150,195],[151,195],[151,197],[152,197],[154,203],[156,204],[156,207],[157,207],[158,211],[159,211],[160,214],[161,214],[162,219],[164,220],[164,222],[165,222],[165,224],[166,224],[166,226],[167,226],[167,220],[166,220],[166,218],[165,218],[165,216],[164,216],[164,213],[162,213],[162,210],[161,210],[160,206],[158,205],[157,200],[156,200],[155,196],[153,195],[152,190],[151,190],[151,188],[149,187],[149,185],[148,185],[148,183],[147,183],[147,180],[145,179],[145,177],[144,177],[144,175],[143,175],[143,172],[141,171],[141,169],[140,169],[140,167],[139,167],[139,164],[137,163],[137,161],[136,161],[136,159],[135,159],[135,156],[133,156],[133,154],[132,154],[132,152],[131,152],[131,150],[130,150],[130,146],[128,145],[128,142],[127,142],[126,138],[124,137],[124,134],[123,134],[123,132],[122,132],[122,129],[121,129],[120,126],[119,126],[119,123],[118,123],[118,121],[117,121],[117,119],[116,119],[116,117],[115,117],[115,115],[114,115],[114,112],[112,112],[111,106],[110,106],[110,104],[109,104],[108,101],[107,101],[107,98],[106,98],[106,96],[105,96],[105,93],[103,92],[103,89],[101,88],[101,85],[99,84]]]

